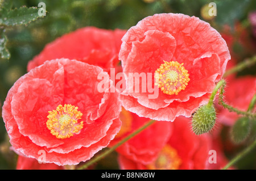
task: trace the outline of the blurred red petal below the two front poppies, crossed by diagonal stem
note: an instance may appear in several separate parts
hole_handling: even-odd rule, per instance
[[[150,119],[133,115],[133,131],[147,123]],[[150,163],[158,156],[160,150],[170,138],[172,127],[170,122],[156,122],[129,141],[119,146],[116,150],[126,158],[139,163]]]

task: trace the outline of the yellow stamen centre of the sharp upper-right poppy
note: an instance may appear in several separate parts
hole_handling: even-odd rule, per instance
[[[190,79],[188,70],[176,61],[164,61],[155,71],[155,85],[168,95],[177,95],[181,90],[185,90]]]

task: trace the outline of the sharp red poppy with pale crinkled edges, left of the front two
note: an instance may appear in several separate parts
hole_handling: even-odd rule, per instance
[[[13,148],[46,163],[76,165],[106,147],[121,127],[118,94],[98,92],[100,67],[68,59],[44,62],[19,78],[3,105]],[[110,79],[109,89],[113,86]]]

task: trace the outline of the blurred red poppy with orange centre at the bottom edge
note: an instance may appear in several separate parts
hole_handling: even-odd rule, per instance
[[[177,117],[171,124],[173,126],[171,137],[154,161],[142,164],[119,155],[118,162],[121,169],[207,169],[212,145],[209,134],[195,135],[191,132],[189,119],[184,116]]]

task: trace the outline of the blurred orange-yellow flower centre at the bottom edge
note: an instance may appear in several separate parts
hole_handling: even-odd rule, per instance
[[[181,164],[181,159],[177,151],[169,145],[164,146],[158,158],[147,165],[150,170],[177,170]]]

